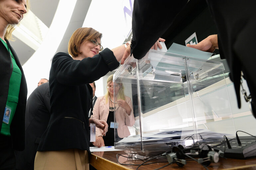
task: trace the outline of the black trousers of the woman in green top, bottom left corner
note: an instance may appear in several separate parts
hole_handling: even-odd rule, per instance
[[[15,170],[11,137],[0,134],[0,170]]]

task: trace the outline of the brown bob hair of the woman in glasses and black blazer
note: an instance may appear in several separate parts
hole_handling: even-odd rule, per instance
[[[68,53],[72,57],[77,57],[78,54],[81,54],[80,51],[78,51],[78,48],[80,44],[87,40],[93,40],[96,38],[102,38],[102,34],[98,31],[94,30],[93,28],[78,28],[75,30],[75,32],[72,34],[69,42],[68,42]]]

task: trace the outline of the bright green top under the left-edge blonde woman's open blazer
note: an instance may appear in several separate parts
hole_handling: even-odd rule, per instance
[[[9,114],[9,116],[4,115],[0,133],[3,135],[11,136],[10,125],[12,123],[12,119],[15,114],[16,107],[17,107],[18,100],[19,100],[20,83],[21,83],[22,73],[21,73],[20,68],[16,64],[14,56],[13,56],[12,52],[10,51],[7,43],[4,42],[2,39],[1,39],[1,42],[5,45],[5,47],[7,48],[7,50],[10,52],[10,54],[12,56],[13,71],[12,71],[10,82],[9,82],[9,90],[8,90],[8,97],[7,97],[7,102],[6,102],[6,109],[5,109],[5,112],[2,113],[2,114],[7,113],[6,110],[9,109],[10,114]],[[11,67],[12,67],[12,64],[11,64]]]

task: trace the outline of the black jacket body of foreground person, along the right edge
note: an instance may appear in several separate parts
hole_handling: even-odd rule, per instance
[[[240,102],[240,77],[243,71],[256,108],[256,1],[207,0],[215,20],[218,34],[219,53],[226,58],[230,68],[230,79],[234,82],[238,107]],[[239,11],[239,15],[237,14]],[[244,100],[244,99],[242,99]],[[254,113],[256,118],[256,113]]]

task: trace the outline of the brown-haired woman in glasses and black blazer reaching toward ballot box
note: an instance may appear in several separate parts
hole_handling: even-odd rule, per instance
[[[96,124],[105,134],[106,121],[88,119],[92,106],[89,83],[119,66],[125,45],[112,50],[100,44],[102,34],[79,28],[71,36],[68,52],[53,57],[50,70],[51,118],[41,137],[35,170],[89,169],[89,126]],[[101,51],[99,53],[99,51]]]

